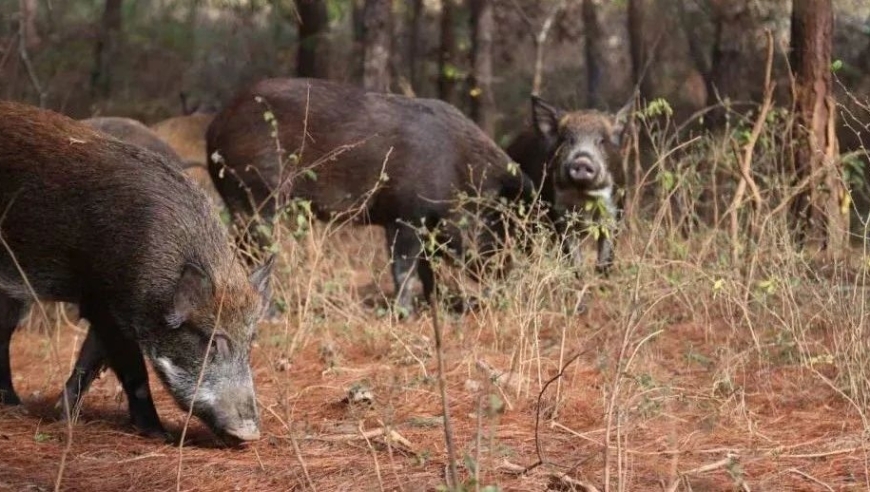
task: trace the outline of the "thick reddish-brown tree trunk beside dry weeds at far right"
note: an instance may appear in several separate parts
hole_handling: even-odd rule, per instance
[[[795,0],[791,23],[791,66],[795,70],[794,163],[806,191],[794,203],[797,240],[819,240],[838,254],[848,232],[848,205],[835,165],[838,152],[831,92],[831,0]],[[843,213],[845,212],[845,213]]]

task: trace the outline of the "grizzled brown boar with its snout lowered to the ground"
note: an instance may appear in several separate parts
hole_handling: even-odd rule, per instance
[[[68,405],[105,363],[133,424],[161,433],[144,353],[216,434],[257,439],[249,356],[271,262],[249,278],[203,193],[156,153],[12,102],[0,135],[0,400],[20,403],[10,339],[35,295],[91,325]]]

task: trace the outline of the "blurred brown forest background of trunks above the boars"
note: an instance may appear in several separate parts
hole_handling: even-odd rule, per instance
[[[448,100],[503,144],[528,114],[537,47],[545,98],[615,109],[641,80],[641,96],[665,98],[681,120],[761,101],[769,31],[786,102],[791,3],[2,0],[0,94],[153,123],[219,108],[264,77],[306,75]],[[833,6],[835,89],[866,100],[870,2]],[[844,135],[841,149],[854,140]]]

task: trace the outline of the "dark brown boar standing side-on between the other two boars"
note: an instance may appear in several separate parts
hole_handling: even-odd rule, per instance
[[[453,106],[323,80],[253,85],[215,117],[206,140],[218,191],[239,230],[260,246],[269,238],[251,218],[257,212],[271,222],[276,202],[289,198],[309,200],[321,219],[343,215],[383,226],[404,312],[413,306],[411,282],[422,282],[426,298],[434,287],[418,227],[443,226],[438,238],[461,252],[450,224],[476,211],[457,209],[459,194],[514,199],[533,192],[507,154]],[[491,209],[483,215],[493,229],[477,237],[485,254],[504,224]]]

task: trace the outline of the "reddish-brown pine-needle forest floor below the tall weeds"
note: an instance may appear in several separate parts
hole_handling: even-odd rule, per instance
[[[346,264],[315,261],[322,283],[311,286],[316,268],[287,280],[322,302],[297,296],[302,307],[285,323],[260,326],[252,358],[263,437],[243,447],[220,447],[196,419],[183,447],[137,436],[108,373],[75,425],[58,422],[53,404],[83,331],[20,329],[12,369],[24,405],[0,408],[0,490],[58,481],[81,491],[438,490],[447,450],[432,319],[396,321],[366,305],[389,278],[383,252],[368,252],[382,236],[358,230],[339,234]],[[607,288],[619,292],[628,275]],[[644,304],[631,337],[624,296],[600,290],[582,314],[445,314],[450,420],[468,490],[868,490],[868,427],[831,383],[830,360],[794,357],[781,330],[745,329],[728,309],[689,312],[701,294],[682,290],[685,301],[651,294],[663,302]],[[798,343],[829,346],[825,333]],[[180,435],[186,414],[151,382],[164,425]],[[348,403],[352,388],[368,389],[370,402]]]

